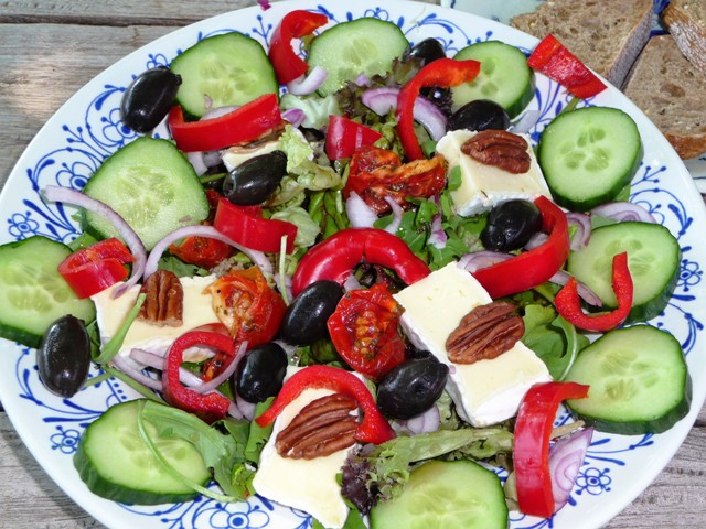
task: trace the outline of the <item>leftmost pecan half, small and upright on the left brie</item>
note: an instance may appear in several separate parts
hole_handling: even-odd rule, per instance
[[[184,289],[169,270],[158,270],[142,284],[147,294],[138,320],[160,327],[178,327],[183,323]]]

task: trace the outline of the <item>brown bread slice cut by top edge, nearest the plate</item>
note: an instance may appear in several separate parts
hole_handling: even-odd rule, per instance
[[[549,0],[512,25],[543,39],[554,34],[588,67],[621,87],[650,37],[653,0]]]

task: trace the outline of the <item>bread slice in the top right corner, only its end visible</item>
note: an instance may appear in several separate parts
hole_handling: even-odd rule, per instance
[[[706,74],[706,1],[672,0],[662,20],[684,56]]]

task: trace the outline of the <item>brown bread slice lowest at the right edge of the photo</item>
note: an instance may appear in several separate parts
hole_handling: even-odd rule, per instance
[[[623,91],[681,158],[706,152],[706,75],[682,55],[671,35],[650,39]]]

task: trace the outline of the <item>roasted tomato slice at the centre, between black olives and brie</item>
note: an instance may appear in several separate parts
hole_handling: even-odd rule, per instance
[[[403,311],[384,283],[347,292],[329,317],[331,342],[349,366],[379,380],[405,359]]]

